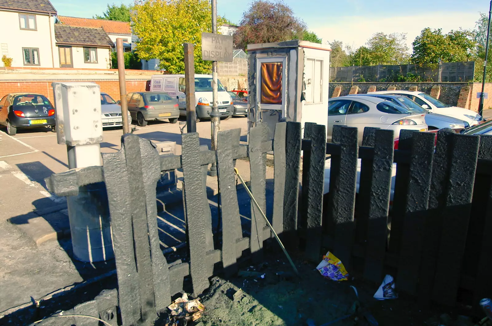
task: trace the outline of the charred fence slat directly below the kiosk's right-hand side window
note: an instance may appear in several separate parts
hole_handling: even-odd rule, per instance
[[[306,123],[307,124],[307,123]],[[323,215],[323,185],[326,157],[326,127],[322,124],[311,126],[311,150],[306,192],[306,256],[312,261],[319,260],[321,250],[321,223]],[[304,178],[303,170],[303,178]]]

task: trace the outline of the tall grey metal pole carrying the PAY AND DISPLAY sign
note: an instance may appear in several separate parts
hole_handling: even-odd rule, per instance
[[[212,32],[217,33],[217,0],[212,0]],[[212,121],[212,150],[216,149],[217,133],[220,130],[220,113],[218,112],[218,82],[217,82],[217,61],[212,61],[212,93],[213,93],[213,106],[210,118]],[[217,166],[212,163],[210,167],[210,175],[217,175]]]

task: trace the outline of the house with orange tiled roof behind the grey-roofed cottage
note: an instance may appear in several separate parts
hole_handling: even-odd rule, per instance
[[[122,38],[124,51],[131,51],[132,35],[130,31],[130,23],[128,22],[68,16],[58,16],[57,22],[59,24],[69,26],[102,28],[115,44],[115,47],[113,49],[116,50],[116,39]]]

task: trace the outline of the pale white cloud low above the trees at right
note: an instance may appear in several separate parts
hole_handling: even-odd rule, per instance
[[[473,12],[434,12],[412,16],[378,17],[367,16],[338,16],[329,17],[325,22],[318,21],[309,24],[309,30],[314,31],[323,43],[333,40],[342,41],[344,45],[358,48],[364,45],[372,34],[384,32],[386,34],[399,32],[407,33],[408,49],[412,51],[412,42],[420,31],[429,27],[442,29],[444,33],[459,28],[468,30],[475,28],[479,13]],[[317,20],[317,19],[316,19]]]

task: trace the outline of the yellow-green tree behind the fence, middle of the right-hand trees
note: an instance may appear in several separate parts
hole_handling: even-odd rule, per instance
[[[402,64],[408,62],[405,33],[373,34],[365,46],[350,53],[352,65]]]

